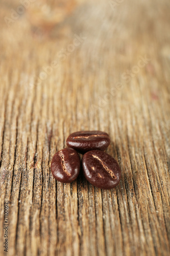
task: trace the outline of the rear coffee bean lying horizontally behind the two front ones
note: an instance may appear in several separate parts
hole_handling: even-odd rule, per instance
[[[66,144],[81,153],[90,150],[104,151],[110,144],[110,138],[107,133],[101,131],[81,131],[70,134]]]

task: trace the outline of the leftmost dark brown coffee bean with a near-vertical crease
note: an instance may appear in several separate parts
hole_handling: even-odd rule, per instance
[[[74,181],[80,172],[80,157],[73,148],[64,148],[52,159],[51,171],[54,178],[63,183]]]

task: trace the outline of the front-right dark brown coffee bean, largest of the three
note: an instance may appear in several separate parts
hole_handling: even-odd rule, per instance
[[[116,160],[100,150],[89,151],[82,158],[85,178],[93,185],[103,189],[115,187],[121,178]]]

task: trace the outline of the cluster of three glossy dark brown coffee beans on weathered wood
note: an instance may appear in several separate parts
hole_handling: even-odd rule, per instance
[[[103,189],[115,187],[121,178],[117,161],[103,152],[110,144],[109,135],[101,131],[81,131],[72,133],[66,140],[67,148],[57,152],[51,163],[54,178],[69,183],[78,177],[81,169],[79,153],[82,157],[84,177],[93,185]]]

